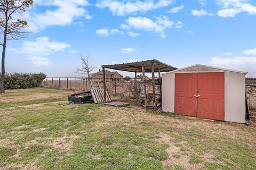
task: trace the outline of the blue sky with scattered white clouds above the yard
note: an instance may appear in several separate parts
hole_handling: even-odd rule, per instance
[[[8,42],[7,72],[81,77],[78,56],[90,55],[98,69],[155,58],[178,68],[198,63],[256,77],[256,1],[35,0],[20,17],[33,33]]]

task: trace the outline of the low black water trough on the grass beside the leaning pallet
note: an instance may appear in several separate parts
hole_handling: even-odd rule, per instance
[[[69,103],[83,104],[83,103],[93,103],[93,97],[91,91],[83,91],[77,94],[72,94],[68,96]]]

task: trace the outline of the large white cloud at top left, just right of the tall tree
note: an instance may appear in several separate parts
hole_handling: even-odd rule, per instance
[[[31,9],[23,16],[28,21],[29,30],[34,32],[53,25],[70,25],[76,18],[92,19],[88,11],[83,8],[89,5],[86,0],[43,0],[35,1],[34,5],[47,8],[44,13],[35,13]],[[50,10],[50,8],[54,8],[54,10]]]

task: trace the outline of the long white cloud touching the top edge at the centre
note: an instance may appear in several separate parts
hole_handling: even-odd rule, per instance
[[[135,14],[137,12],[145,13],[160,7],[169,6],[174,0],[160,0],[154,3],[153,0],[120,2],[117,0],[103,0],[96,4],[99,8],[109,8],[114,15],[124,16],[126,14]]]

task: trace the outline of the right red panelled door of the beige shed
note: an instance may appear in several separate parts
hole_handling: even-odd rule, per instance
[[[197,117],[224,121],[224,73],[197,73]]]

